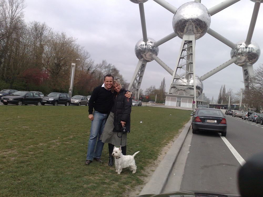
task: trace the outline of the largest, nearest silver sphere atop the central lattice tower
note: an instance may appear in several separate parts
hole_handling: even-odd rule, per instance
[[[173,28],[179,38],[195,35],[201,38],[210,27],[211,16],[207,8],[198,2],[188,2],[178,8],[173,17]]]

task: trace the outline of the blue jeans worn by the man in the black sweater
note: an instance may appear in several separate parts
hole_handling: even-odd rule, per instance
[[[106,122],[107,114],[94,110],[93,120],[91,121],[90,136],[87,150],[87,160],[100,158],[104,143],[100,140]]]

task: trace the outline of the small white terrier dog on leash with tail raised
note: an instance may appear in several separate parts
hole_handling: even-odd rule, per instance
[[[137,166],[135,165],[134,156],[140,151],[134,153],[133,155],[123,155],[122,149],[114,146],[112,156],[115,158],[115,169],[118,174],[122,172],[123,168],[129,167],[134,174],[136,172]]]

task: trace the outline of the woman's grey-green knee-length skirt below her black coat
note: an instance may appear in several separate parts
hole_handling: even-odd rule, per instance
[[[105,123],[102,135],[100,139],[103,143],[114,144],[114,146],[120,147],[120,141],[122,136],[122,146],[127,145],[127,133],[112,132],[114,128],[114,113],[110,112],[109,117]]]

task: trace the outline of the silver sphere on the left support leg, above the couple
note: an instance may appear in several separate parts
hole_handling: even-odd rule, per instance
[[[135,55],[140,59],[144,59],[146,62],[153,61],[152,55],[158,55],[159,48],[158,46],[154,46],[155,40],[152,38],[148,38],[148,41],[145,42],[143,39],[139,40],[135,45]]]

